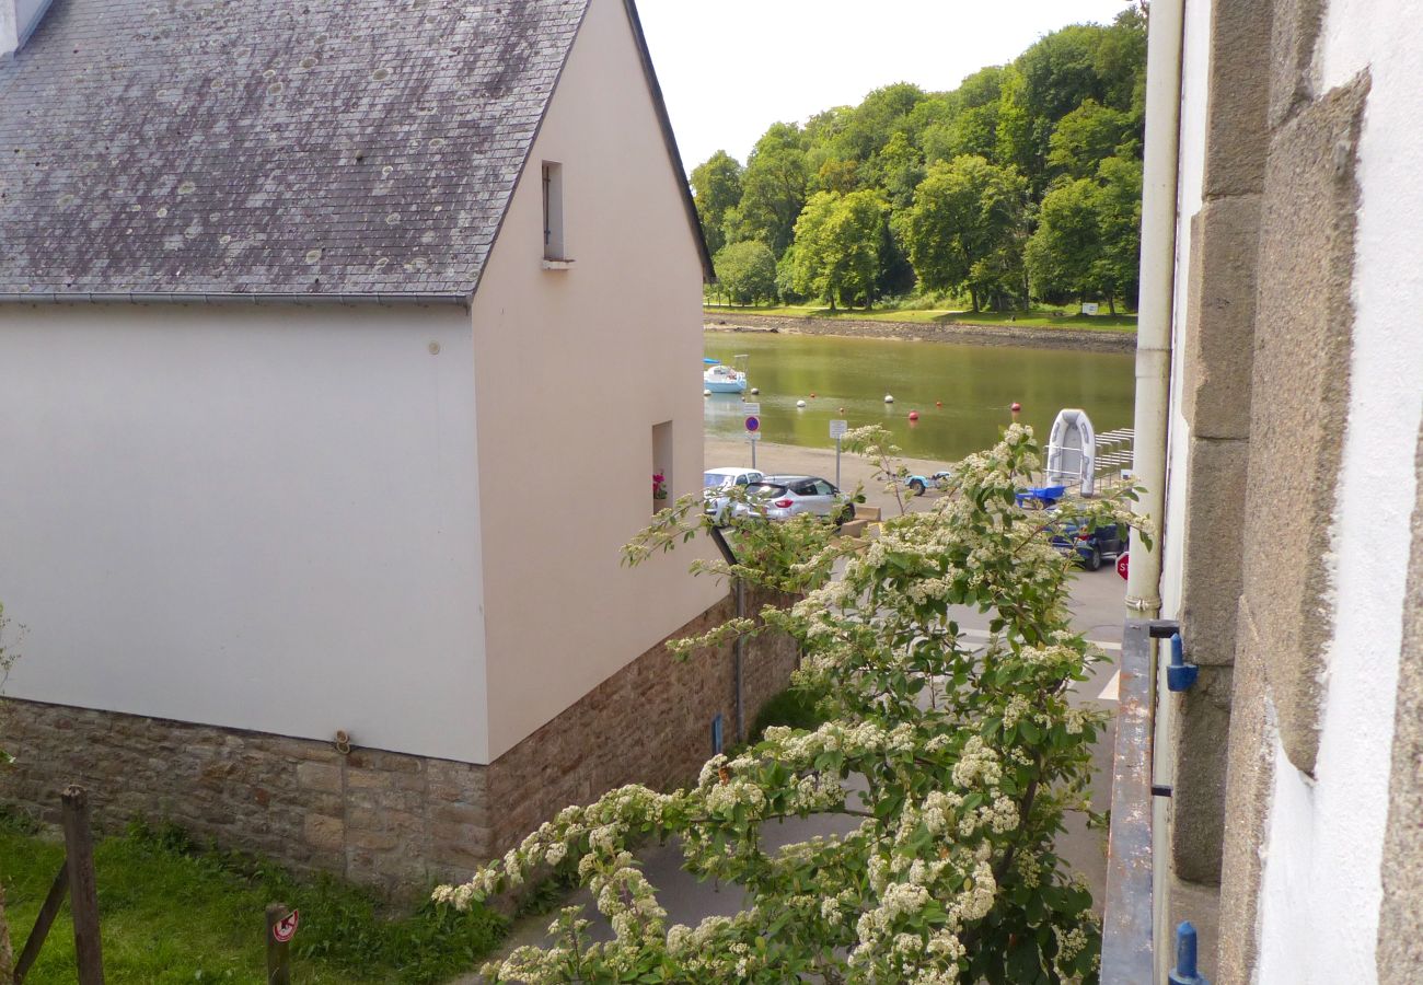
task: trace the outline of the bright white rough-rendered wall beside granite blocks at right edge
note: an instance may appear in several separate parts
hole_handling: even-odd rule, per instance
[[[1423,28],[1412,0],[1332,0],[1319,91],[1368,68],[1335,635],[1316,779],[1276,749],[1261,982],[1375,981],[1414,451],[1423,417]]]

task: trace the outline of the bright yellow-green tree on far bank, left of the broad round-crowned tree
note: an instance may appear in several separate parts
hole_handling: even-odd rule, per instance
[[[884,202],[871,191],[811,195],[795,222],[795,290],[825,297],[831,310],[869,305],[879,276]]]

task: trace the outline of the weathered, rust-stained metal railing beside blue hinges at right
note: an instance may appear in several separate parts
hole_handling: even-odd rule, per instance
[[[1121,638],[1117,742],[1111,757],[1107,902],[1101,925],[1101,985],[1150,985],[1153,969],[1151,746],[1155,726],[1153,639],[1175,622],[1128,619]]]

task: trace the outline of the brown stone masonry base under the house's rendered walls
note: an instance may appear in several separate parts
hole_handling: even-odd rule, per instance
[[[764,596],[748,596],[756,612]],[[673,638],[733,613],[719,602]],[[746,646],[746,720],[795,666],[784,636]],[[659,643],[491,766],[115,712],[6,700],[0,806],[58,820],[88,787],[101,830],[172,821],[226,848],[387,891],[468,875],[569,803],[625,783],[670,787],[712,753],[712,717],[734,740],[731,648],[676,662]]]

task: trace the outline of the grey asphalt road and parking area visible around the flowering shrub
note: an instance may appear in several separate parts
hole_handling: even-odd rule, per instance
[[[761,471],[781,471],[795,474],[822,475],[834,481],[834,451],[815,448],[793,448],[787,446],[764,446],[757,450],[757,467]],[[744,465],[750,467],[750,453],[746,443],[714,441],[706,443],[707,467]],[[929,471],[942,468],[938,463],[908,463],[911,467],[929,467]],[[854,490],[857,483],[864,483],[867,502],[881,507],[885,514],[896,512],[898,502],[892,494],[887,494],[879,484],[871,478],[872,470],[859,458],[844,455],[841,460],[842,488]],[[909,508],[924,507],[931,497],[919,502],[909,502]],[[1116,709],[1117,688],[1117,659],[1121,650],[1121,628],[1126,619],[1126,582],[1117,575],[1113,565],[1103,565],[1100,571],[1079,571],[1072,589],[1073,629],[1097,643],[1107,656],[1099,663],[1089,680],[1079,683],[1073,689],[1073,703],[1096,706],[1106,710]],[[986,613],[963,609],[958,613],[961,626],[969,635],[988,638]],[[1116,729],[1109,725],[1093,752],[1097,780],[1093,784],[1093,801],[1099,811],[1104,811],[1111,794],[1111,747]],[[831,834],[844,831],[855,826],[855,818],[845,817],[811,817],[805,820],[791,818],[767,828],[767,841],[773,844],[788,844],[804,841],[817,834]],[[1083,818],[1072,816],[1067,818],[1067,831],[1059,841],[1062,857],[1083,875],[1091,885],[1093,898],[1099,912],[1106,898],[1107,871],[1107,836],[1106,831],[1089,831]],[[696,925],[702,918],[710,915],[731,915],[741,905],[741,892],[734,885],[714,885],[697,883],[682,871],[682,853],[675,844],[656,846],[642,853],[643,870],[649,881],[659,888],[662,905],[667,910],[667,922]],[[610,928],[602,921],[592,907],[592,898],[586,891],[579,891],[562,904],[585,904],[585,915],[593,921],[592,931],[603,939],[610,937]],[[552,921],[552,915],[531,917],[515,925],[505,945],[505,952],[525,944],[546,944],[545,928]],[[475,982],[477,978],[462,979]]]

